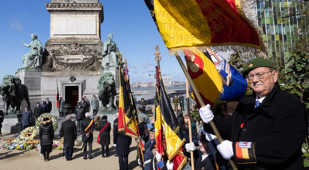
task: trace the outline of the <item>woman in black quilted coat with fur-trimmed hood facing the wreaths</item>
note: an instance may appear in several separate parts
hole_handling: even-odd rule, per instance
[[[44,156],[44,162],[49,161],[49,153],[52,152],[54,128],[52,120],[49,120],[48,115],[44,115],[43,120],[40,122],[39,137],[41,141],[40,153]]]

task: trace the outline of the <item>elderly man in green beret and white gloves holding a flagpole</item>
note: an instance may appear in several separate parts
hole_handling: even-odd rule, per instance
[[[273,61],[257,57],[243,68],[254,93],[240,100],[228,118],[214,116],[210,106],[199,112],[206,132],[214,120],[224,139],[217,148],[225,159],[234,157],[238,169],[304,169],[301,147],[307,137],[302,102],[280,88]]]

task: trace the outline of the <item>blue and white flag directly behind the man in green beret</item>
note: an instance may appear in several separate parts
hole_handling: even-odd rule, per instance
[[[246,93],[248,81],[217,51],[207,48],[211,61],[216,66],[222,80],[223,93],[220,100],[241,100]],[[206,54],[207,57],[208,54]]]

